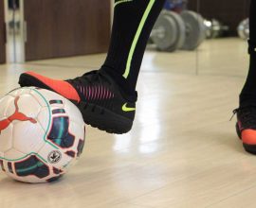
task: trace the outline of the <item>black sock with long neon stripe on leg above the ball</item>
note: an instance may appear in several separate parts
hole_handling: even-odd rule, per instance
[[[111,43],[101,70],[128,95],[136,95],[137,77],[151,30],[165,0],[115,0]]]

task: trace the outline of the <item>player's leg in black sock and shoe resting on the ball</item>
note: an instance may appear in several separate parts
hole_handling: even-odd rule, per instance
[[[116,0],[111,43],[98,71],[66,81],[33,72],[19,83],[55,91],[72,100],[87,124],[101,130],[131,130],[137,101],[137,76],[146,44],[165,0]]]

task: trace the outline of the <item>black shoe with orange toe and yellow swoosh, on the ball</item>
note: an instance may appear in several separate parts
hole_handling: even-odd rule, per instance
[[[27,72],[20,76],[19,84],[21,87],[35,86],[63,95],[80,109],[84,122],[92,127],[118,134],[132,129],[137,93],[133,97],[125,95],[104,71],[92,71],[68,80]]]

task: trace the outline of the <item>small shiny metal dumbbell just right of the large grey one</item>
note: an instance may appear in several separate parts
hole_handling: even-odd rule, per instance
[[[229,26],[224,26],[220,21],[216,19],[204,20],[204,25],[206,27],[206,38],[215,39],[220,38],[229,31]]]

